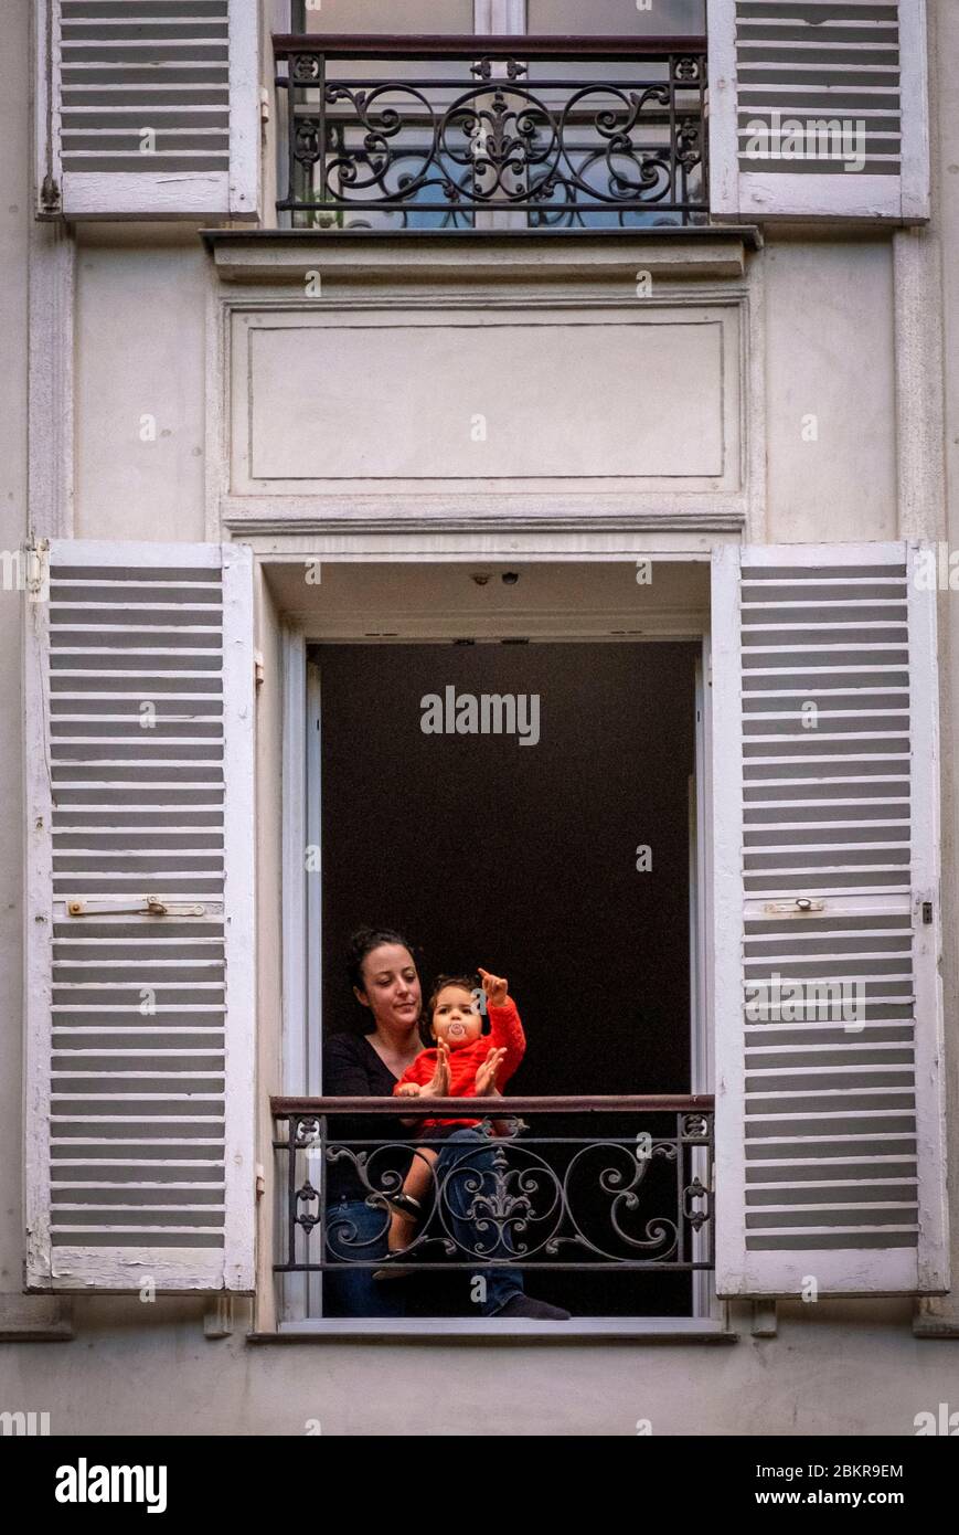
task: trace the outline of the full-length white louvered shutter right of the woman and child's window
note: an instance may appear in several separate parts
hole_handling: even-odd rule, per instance
[[[713,565],[720,1294],[948,1286],[925,559]]]

